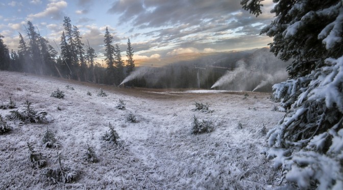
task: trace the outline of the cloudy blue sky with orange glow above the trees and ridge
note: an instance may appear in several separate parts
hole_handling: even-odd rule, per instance
[[[26,0],[0,1],[0,34],[9,49],[17,51],[20,32],[27,21],[58,51],[64,16],[80,29],[104,59],[104,34],[108,27],[113,44],[125,57],[130,38],[137,63],[173,60],[182,55],[249,50],[267,46],[272,38],[259,35],[274,15],[272,0],[263,1],[258,17],[241,8],[238,0]],[[55,42],[54,42],[55,41]]]

